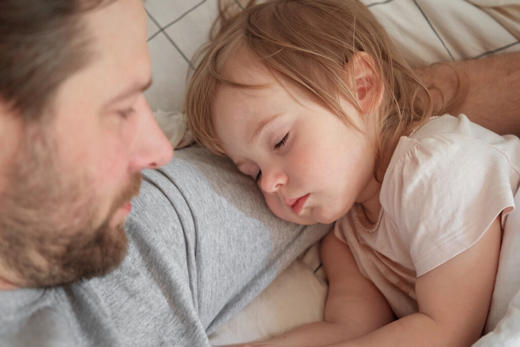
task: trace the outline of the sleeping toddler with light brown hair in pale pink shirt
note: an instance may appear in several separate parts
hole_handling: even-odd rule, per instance
[[[520,182],[518,138],[434,107],[357,0],[251,2],[220,19],[188,87],[193,135],[277,216],[335,221],[321,243],[323,322],[264,343],[475,342]]]

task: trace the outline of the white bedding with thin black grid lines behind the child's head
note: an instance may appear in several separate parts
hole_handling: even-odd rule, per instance
[[[415,66],[520,49],[518,0],[472,1],[363,0]],[[153,72],[146,97],[152,110],[182,111],[189,60],[207,40],[217,0],[146,0],[145,7]]]

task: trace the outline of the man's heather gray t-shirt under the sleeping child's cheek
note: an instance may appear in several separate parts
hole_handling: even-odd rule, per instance
[[[0,346],[207,346],[330,226],[272,215],[254,182],[193,147],[145,171],[128,254],[102,278],[0,291]]]

